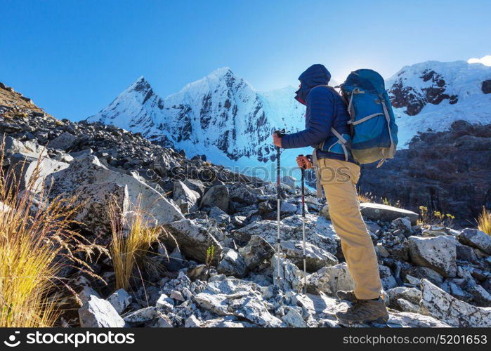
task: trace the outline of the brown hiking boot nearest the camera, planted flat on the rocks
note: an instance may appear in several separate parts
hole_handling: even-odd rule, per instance
[[[388,321],[384,300],[356,300],[346,312],[337,312],[336,318],[343,324]]]

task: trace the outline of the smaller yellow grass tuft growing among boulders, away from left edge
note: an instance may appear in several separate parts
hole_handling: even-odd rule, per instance
[[[162,227],[149,223],[149,216],[143,212],[140,204],[123,216],[121,208],[112,201],[109,214],[112,227],[110,253],[116,289],[128,290],[131,278],[142,279],[140,271],[148,263],[150,246],[166,232]],[[136,276],[135,270],[138,272]]]

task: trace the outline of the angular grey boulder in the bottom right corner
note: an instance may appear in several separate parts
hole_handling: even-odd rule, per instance
[[[450,326],[490,327],[491,307],[476,307],[457,300],[426,279],[421,280],[422,314],[434,317]]]

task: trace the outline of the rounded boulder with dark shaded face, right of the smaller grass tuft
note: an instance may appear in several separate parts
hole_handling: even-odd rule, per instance
[[[174,237],[179,249],[185,256],[200,263],[206,263],[207,250],[209,247],[214,246],[215,252],[212,262],[214,264],[218,263],[222,253],[222,246],[209,233],[207,228],[197,224],[194,220],[183,218],[169,223],[166,225],[166,229]],[[174,239],[167,238],[165,240],[167,244],[173,245]]]

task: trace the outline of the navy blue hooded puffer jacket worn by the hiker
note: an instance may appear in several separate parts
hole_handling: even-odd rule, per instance
[[[334,148],[336,152],[327,149],[338,140],[331,132],[331,127],[341,134],[349,135],[349,114],[346,104],[339,94],[327,88],[331,74],[326,67],[320,64],[312,65],[303,72],[299,81],[301,87],[296,91],[296,100],[306,105],[305,130],[298,133],[283,135],[282,147],[284,149],[295,149],[297,147],[316,147],[325,141],[323,150],[317,150],[317,158],[341,159],[345,156],[339,147]],[[355,162],[353,158],[348,161]]]

